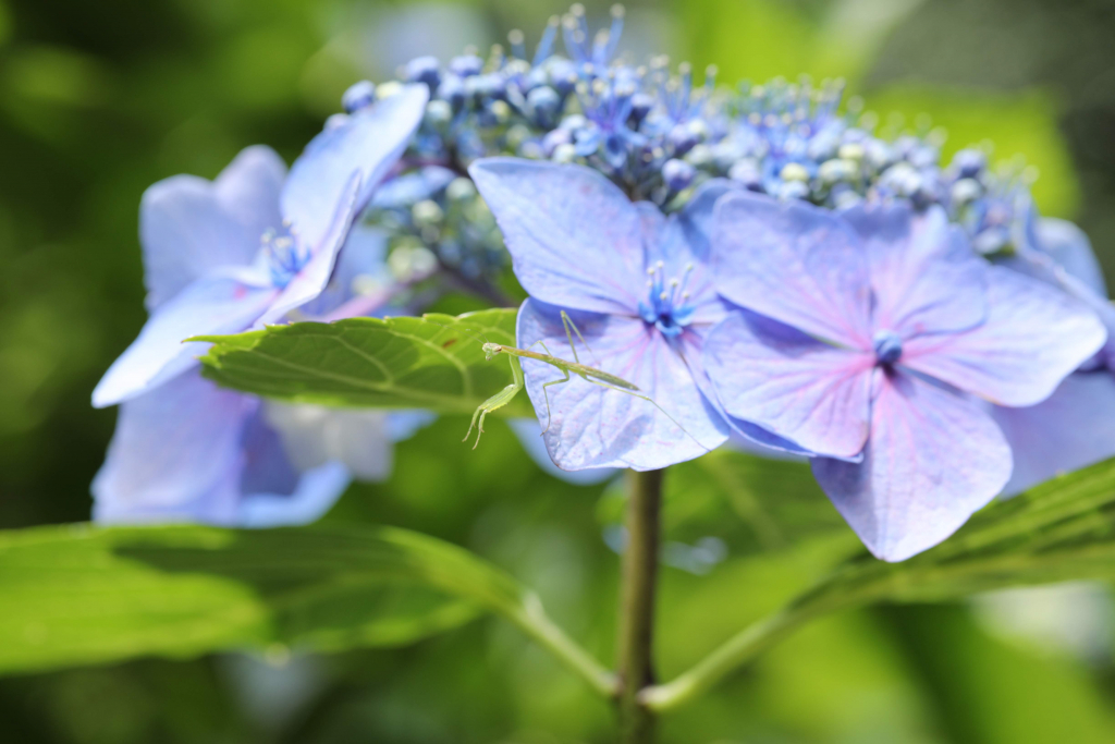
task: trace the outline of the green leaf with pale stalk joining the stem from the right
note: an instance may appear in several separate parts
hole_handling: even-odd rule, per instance
[[[861,553],[689,671],[648,688],[643,698],[658,711],[680,705],[803,624],[835,610],[1079,579],[1115,579],[1115,460],[996,501],[952,538],[902,563]]]

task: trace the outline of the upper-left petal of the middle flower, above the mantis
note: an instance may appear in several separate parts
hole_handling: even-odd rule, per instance
[[[579,165],[513,157],[479,160],[468,172],[531,297],[571,310],[637,315],[647,280],[642,224],[615,184]]]

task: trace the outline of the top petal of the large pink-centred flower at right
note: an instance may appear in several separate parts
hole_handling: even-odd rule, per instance
[[[966,330],[987,315],[987,262],[939,206],[905,202],[843,213],[867,247],[874,326],[903,338]]]

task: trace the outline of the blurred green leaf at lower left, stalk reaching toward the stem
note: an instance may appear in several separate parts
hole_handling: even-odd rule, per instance
[[[506,573],[391,528],[0,533],[0,673],[275,644],[400,645],[487,610],[610,684]]]

